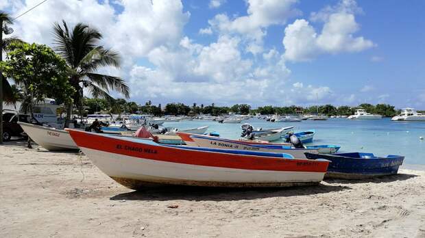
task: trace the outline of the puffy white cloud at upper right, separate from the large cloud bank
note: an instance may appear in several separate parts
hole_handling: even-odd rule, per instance
[[[371,40],[354,37],[360,26],[354,13],[359,12],[355,1],[341,1],[337,7],[328,7],[312,14],[313,21],[323,21],[320,34],[304,19],[297,19],[285,28],[282,44],[285,57],[302,62],[324,53],[358,52],[374,47]]]

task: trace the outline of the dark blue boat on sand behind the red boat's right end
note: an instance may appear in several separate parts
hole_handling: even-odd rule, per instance
[[[308,159],[327,159],[329,164],[326,177],[343,179],[373,178],[397,174],[404,156],[388,155],[377,157],[372,153],[337,153],[334,155],[305,154]]]

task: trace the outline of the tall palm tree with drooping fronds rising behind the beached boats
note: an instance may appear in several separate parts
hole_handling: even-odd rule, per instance
[[[63,27],[55,23],[53,27],[56,51],[62,55],[70,70],[69,83],[75,88],[73,96],[74,104],[81,107],[83,98],[83,88],[88,88],[94,97],[106,98],[113,102],[109,90],[117,91],[125,98],[129,98],[130,89],[124,79],[110,75],[97,73],[97,69],[102,66],[114,66],[119,68],[119,54],[110,49],[105,49],[99,45],[102,34],[88,25],[78,23],[69,31],[68,25],[62,21]],[[73,105],[68,105],[66,109],[67,127],[71,119]]]

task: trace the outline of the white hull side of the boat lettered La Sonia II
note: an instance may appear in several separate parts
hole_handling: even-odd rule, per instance
[[[306,159],[304,153],[319,153],[319,149],[303,149],[303,148],[264,148],[261,146],[252,146],[248,144],[241,144],[236,142],[224,141],[224,140],[215,140],[214,138],[209,139],[208,137],[191,137],[195,144],[199,147],[207,148],[226,148],[231,150],[250,150],[250,151],[261,151],[261,152],[271,152],[271,153],[286,153],[292,155],[297,159]],[[264,146],[267,146],[265,144]]]

